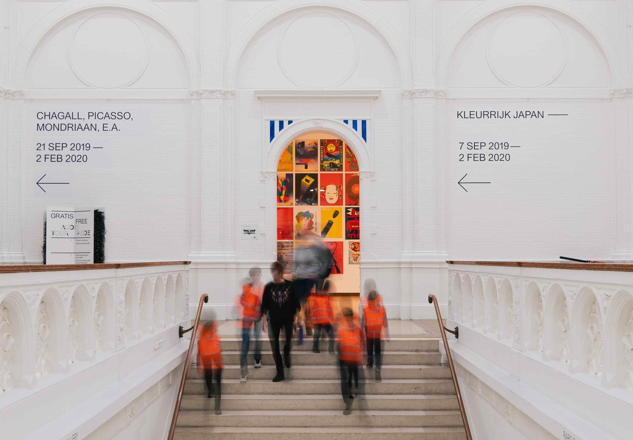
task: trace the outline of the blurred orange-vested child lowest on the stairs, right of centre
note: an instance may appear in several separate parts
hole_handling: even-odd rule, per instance
[[[346,307],[339,323],[339,368],[341,369],[341,394],[345,402],[344,415],[351,414],[354,391],[358,397],[358,367],[363,360],[361,329],[354,319],[354,312]]]

